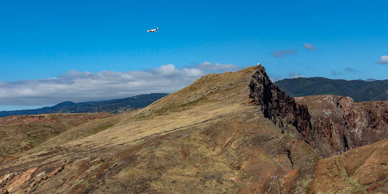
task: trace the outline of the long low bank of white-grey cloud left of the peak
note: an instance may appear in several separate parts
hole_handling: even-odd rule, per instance
[[[144,71],[71,70],[57,78],[0,81],[0,105],[46,105],[62,101],[89,101],[131,97],[149,93],[172,93],[212,72],[242,69],[232,64],[204,62],[191,68],[162,65]]]

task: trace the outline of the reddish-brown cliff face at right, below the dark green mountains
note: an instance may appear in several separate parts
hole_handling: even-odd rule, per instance
[[[388,137],[388,104],[354,102],[350,97],[296,97],[307,105],[315,134],[315,146],[324,156],[342,153]]]

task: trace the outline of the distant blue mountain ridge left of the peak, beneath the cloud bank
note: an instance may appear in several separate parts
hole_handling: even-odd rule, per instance
[[[20,114],[45,114],[45,113],[124,113],[131,110],[144,108],[152,102],[167,96],[164,93],[143,94],[134,97],[121,99],[88,101],[88,102],[70,102],[65,101],[51,107],[39,109],[0,111],[0,117],[20,115]]]

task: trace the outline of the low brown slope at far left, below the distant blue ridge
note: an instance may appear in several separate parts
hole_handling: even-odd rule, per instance
[[[2,117],[0,118],[0,155],[19,154],[67,129],[110,116],[112,114],[109,113],[55,113]]]

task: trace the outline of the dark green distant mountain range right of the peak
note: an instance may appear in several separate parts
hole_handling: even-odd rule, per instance
[[[331,80],[322,77],[295,78],[276,81],[281,90],[291,97],[337,95],[355,101],[388,100],[388,80]]]

